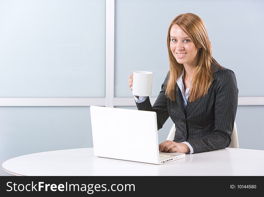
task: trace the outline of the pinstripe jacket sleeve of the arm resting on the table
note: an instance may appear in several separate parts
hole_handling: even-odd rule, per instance
[[[188,140],[194,153],[214,151],[226,148],[231,143],[235,115],[238,103],[238,88],[235,73],[221,70],[215,84],[214,130],[212,134]]]

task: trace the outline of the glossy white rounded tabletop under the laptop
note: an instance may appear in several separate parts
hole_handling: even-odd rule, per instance
[[[26,176],[263,176],[264,151],[225,148],[162,165],[95,157],[93,148],[49,151],[15,157],[2,168]]]

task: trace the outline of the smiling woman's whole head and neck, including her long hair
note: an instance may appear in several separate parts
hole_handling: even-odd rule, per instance
[[[211,63],[222,67],[211,57],[211,42],[202,19],[193,13],[180,14],[173,19],[168,30],[167,47],[170,78],[166,94],[175,101],[175,82],[183,72],[184,91],[192,82],[189,101],[205,96],[213,79]]]

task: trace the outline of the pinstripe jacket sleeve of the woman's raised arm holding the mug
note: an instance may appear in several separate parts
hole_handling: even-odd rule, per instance
[[[169,118],[169,113],[167,109],[167,96],[165,95],[165,90],[167,87],[166,85],[168,80],[169,80],[169,73],[167,74],[163,84],[161,85],[160,94],[158,95],[157,100],[155,101],[153,107],[151,106],[149,97],[147,97],[147,99],[142,103],[136,102],[138,110],[156,112],[158,130],[163,127],[164,123]]]

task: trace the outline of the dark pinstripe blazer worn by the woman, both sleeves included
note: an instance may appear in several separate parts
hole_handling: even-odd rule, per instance
[[[193,153],[226,148],[231,143],[238,103],[235,73],[214,64],[211,67],[214,77],[208,93],[195,102],[187,102],[186,109],[177,84],[175,102],[164,94],[169,73],[153,106],[149,97],[142,103],[136,103],[139,110],[157,113],[158,130],[170,116],[176,127],[173,141],[189,142]]]

